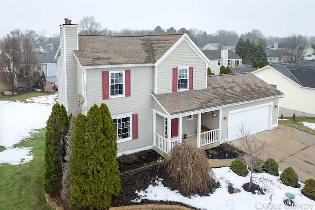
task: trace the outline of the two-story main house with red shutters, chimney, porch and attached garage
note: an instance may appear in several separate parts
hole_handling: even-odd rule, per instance
[[[58,100],[85,114],[105,103],[117,129],[118,156],[154,149],[167,155],[182,141],[209,148],[278,126],[283,96],[251,73],[207,77],[208,58],[187,34],[78,35],[60,25]],[[241,63],[241,62],[240,62]]]

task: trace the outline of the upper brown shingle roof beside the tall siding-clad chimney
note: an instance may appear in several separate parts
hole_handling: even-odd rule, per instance
[[[82,66],[154,64],[183,34],[145,36],[79,35],[74,51]]]

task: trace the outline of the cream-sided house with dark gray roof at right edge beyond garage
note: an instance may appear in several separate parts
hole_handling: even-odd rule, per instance
[[[284,93],[279,116],[315,117],[315,61],[268,65],[252,73]]]

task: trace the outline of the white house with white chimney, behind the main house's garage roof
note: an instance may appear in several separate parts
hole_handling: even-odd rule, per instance
[[[233,73],[240,72],[242,58],[231,50],[202,50],[210,60],[210,70],[215,75],[220,73],[221,66],[229,67]]]

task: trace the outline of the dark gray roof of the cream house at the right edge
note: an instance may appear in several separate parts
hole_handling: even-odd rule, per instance
[[[270,66],[301,86],[315,88],[315,61]]]

